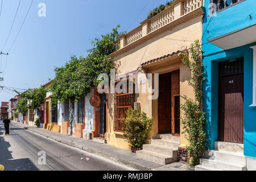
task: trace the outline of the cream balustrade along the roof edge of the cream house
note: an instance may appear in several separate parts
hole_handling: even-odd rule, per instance
[[[141,22],[140,26],[125,35],[121,35],[117,40],[119,49],[118,51],[114,52],[113,55],[115,55],[117,52],[124,52],[125,50],[121,51],[122,49],[137,46],[137,44],[135,44],[136,42],[146,40],[149,36],[166,31],[171,26],[175,26],[176,23],[186,21],[186,18],[189,16],[188,14],[192,13],[193,11],[194,13],[198,12],[203,14],[203,11],[200,10],[201,6],[204,6],[204,0],[174,1],[166,10],[155,15],[151,19],[145,19],[143,22]]]

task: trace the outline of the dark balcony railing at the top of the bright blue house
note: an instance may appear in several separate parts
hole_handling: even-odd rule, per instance
[[[238,3],[245,1],[245,0],[212,0],[210,1],[213,3],[212,5],[212,13],[217,13],[219,11],[222,11],[228,7],[232,7],[234,5],[237,5]]]

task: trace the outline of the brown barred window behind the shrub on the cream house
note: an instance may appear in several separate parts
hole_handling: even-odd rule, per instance
[[[118,83],[117,83],[118,84]],[[116,84],[116,85],[117,85]],[[122,88],[125,86],[126,88]],[[114,131],[122,132],[122,118],[126,118],[126,111],[129,107],[133,107],[135,94],[135,85],[129,90],[129,82],[126,85],[118,86],[114,95]],[[121,92],[121,90],[123,90]],[[129,91],[131,93],[129,93]]]

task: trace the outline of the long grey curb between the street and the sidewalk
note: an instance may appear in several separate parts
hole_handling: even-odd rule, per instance
[[[35,130],[33,130],[32,128],[29,128],[29,127],[19,126],[19,125],[17,125],[17,124],[14,123],[14,122],[12,122],[12,124],[15,125],[15,126],[18,126],[18,127],[20,127],[20,128],[23,128],[23,129],[25,129],[25,130],[30,130],[30,131],[32,131],[33,133],[42,135],[43,137],[53,139],[53,140],[55,140],[55,141],[57,141],[57,142],[61,142],[61,143],[63,143],[63,144],[67,144],[68,146],[72,146],[72,147],[75,147],[75,148],[79,148],[80,150],[84,150],[84,151],[89,152],[89,153],[91,153],[91,154],[101,156],[101,157],[103,157],[103,158],[112,160],[113,162],[117,162],[117,163],[119,163],[119,164],[123,164],[123,165],[129,166],[129,167],[133,167],[133,168],[138,169],[138,170],[140,170],[140,171],[152,171],[152,170],[153,170],[152,168],[147,167],[147,166],[143,166],[142,164],[138,164],[138,163],[135,163],[135,162],[131,162],[130,160],[118,158],[118,157],[116,157],[116,156],[114,156],[114,155],[105,154],[104,152],[99,152],[99,151],[97,151],[97,150],[93,150],[93,149],[90,148],[90,147],[83,146],[83,145],[81,145],[81,144],[75,143],[75,142],[70,141],[70,140],[63,140],[63,139],[60,139],[59,137],[54,137],[54,136],[51,136],[51,135],[43,134],[43,133],[40,133],[40,132],[38,132],[38,131],[35,131]]]

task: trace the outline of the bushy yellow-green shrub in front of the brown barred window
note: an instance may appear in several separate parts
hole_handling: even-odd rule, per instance
[[[123,135],[131,147],[142,148],[146,143],[146,135],[151,125],[152,118],[148,118],[141,110],[135,111],[130,107],[123,120]]]

